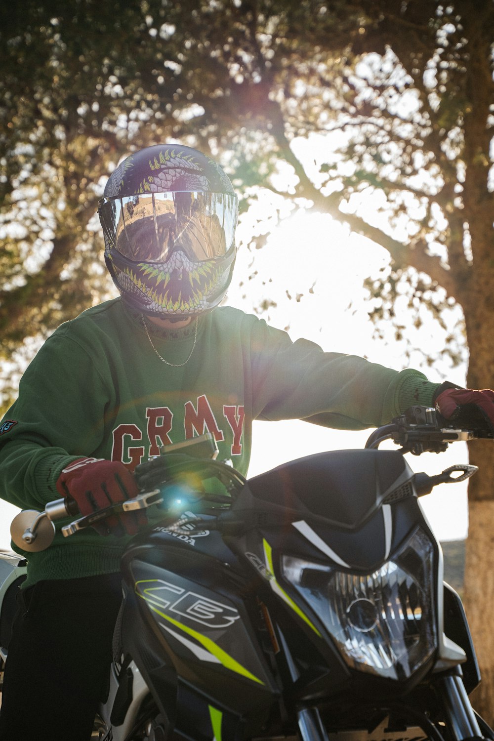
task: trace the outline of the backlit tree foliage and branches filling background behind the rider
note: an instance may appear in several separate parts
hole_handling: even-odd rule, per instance
[[[242,207],[272,190],[385,247],[375,319],[402,293],[415,323],[458,302],[468,383],[492,383],[492,0],[24,0],[0,28],[4,359],[101,299],[104,179],[180,140],[221,160]]]

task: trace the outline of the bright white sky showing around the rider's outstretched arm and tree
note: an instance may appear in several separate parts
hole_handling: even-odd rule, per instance
[[[266,205],[264,201],[263,207]],[[247,216],[252,217],[252,213]],[[241,222],[239,241],[250,227],[247,219]],[[363,279],[377,273],[385,263],[386,253],[381,247],[350,235],[329,216],[307,216],[299,211],[273,230],[261,250],[239,250],[227,303],[252,312],[253,305],[258,307],[269,297],[276,306],[271,306],[264,318],[278,328],[288,327],[293,339],[304,336],[318,342],[324,350],[363,355],[401,370],[410,365],[404,359],[404,345],[389,338],[386,343],[373,339],[373,325],[367,315],[369,305],[362,289]],[[350,302],[352,307],[347,310]],[[440,342],[439,330],[433,324],[423,326],[414,339],[415,346],[428,351],[440,347]],[[412,365],[419,368],[420,363],[421,355],[416,353]],[[464,368],[451,370],[438,364],[435,371],[424,372],[431,380],[442,381],[447,376],[464,383]],[[310,453],[361,448],[367,436],[367,432],[327,430],[307,422],[256,422],[250,475]],[[408,459],[415,471],[438,473],[453,463],[466,462],[467,451],[463,444],[457,444],[441,456],[427,454]],[[466,536],[465,485],[442,485],[421,502],[440,539]],[[0,503],[0,548],[10,547],[10,521],[16,512],[16,508]]]

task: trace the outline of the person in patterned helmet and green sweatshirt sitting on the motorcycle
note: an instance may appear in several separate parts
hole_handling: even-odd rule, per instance
[[[89,514],[134,496],[133,468],[161,445],[204,431],[246,473],[253,419],[361,429],[435,403],[447,417],[474,405],[494,423],[492,391],[325,353],[220,306],[237,215],[223,170],[189,147],[156,144],[116,167],[99,216],[121,297],[61,325],[24,373],[0,428],[4,499],[41,510],[70,495]],[[2,741],[89,739],[121,599],[119,559],[142,525],[136,514],[113,517],[24,554]]]

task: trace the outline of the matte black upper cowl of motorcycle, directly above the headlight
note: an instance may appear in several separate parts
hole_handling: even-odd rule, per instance
[[[250,497],[322,517],[338,528],[362,525],[395,491],[413,496],[413,471],[398,451],[316,453],[284,463],[247,481],[231,510],[250,508]],[[404,486],[409,484],[408,488]]]

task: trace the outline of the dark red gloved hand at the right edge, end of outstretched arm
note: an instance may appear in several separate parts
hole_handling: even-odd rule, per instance
[[[435,408],[444,416],[461,425],[481,426],[494,433],[494,391],[490,388],[475,391],[471,388],[447,388],[435,398]]]

